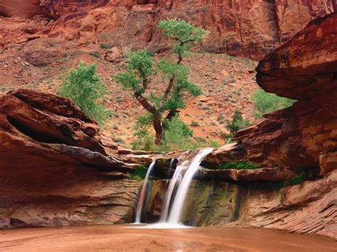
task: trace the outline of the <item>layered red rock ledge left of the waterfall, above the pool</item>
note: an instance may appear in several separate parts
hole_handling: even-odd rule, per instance
[[[69,99],[28,89],[0,97],[0,153],[0,228],[132,221],[139,183],[123,179],[151,160],[119,153]]]

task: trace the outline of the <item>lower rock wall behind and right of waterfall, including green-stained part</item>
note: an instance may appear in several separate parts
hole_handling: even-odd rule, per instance
[[[147,221],[161,214],[166,180],[151,183]],[[228,182],[193,180],[183,209],[192,226],[235,226],[282,229],[337,239],[337,170],[322,180],[273,190]]]

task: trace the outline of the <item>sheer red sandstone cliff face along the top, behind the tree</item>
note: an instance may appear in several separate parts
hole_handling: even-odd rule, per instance
[[[0,0],[8,16],[32,16],[38,0]],[[334,7],[335,6],[335,7]],[[160,52],[166,42],[156,26],[166,18],[182,18],[211,33],[201,48],[260,59],[286,42],[314,18],[332,13],[335,1],[57,1],[40,0],[40,12],[58,20],[43,35],[109,43],[125,48]],[[26,15],[25,15],[26,13]],[[127,38],[127,40],[125,40]]]

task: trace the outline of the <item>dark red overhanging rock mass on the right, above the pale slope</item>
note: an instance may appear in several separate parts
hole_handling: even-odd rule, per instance
[[[298,102],[236,134],[248,160],[267,167],[319,167],[322,175],[337,168],[336,24],[336,13],[311,21],[259,63],[258,84]]]

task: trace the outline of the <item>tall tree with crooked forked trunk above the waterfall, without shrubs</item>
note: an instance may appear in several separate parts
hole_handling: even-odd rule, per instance
[[[201,93],[200,88],[188,80],[188,67],[182,62],[191,47],[208,34],[203,28],[176,19],[161,21],[159,29],[165,38],[174,41],[173,54],[176,55],[176,60],[166,60],[165,57],[154,60],[146,50],[130,51],[127,53],[125,72],[115,77],[117,83],[130,90],[149,112],[157,145],[161,144],[164,136],[164,122],[173,119],[178,109],[186,106],[183,101],[186,94],[197,97]],[[151,84],[151,80],[157,75],[163,77],[163,94],[155,93],[156,87]]]

